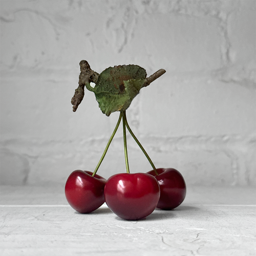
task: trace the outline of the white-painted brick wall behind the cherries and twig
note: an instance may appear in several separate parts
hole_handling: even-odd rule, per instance
[[[79,61],[101,72],[166,73],[127,117],[157,167],[188,184],[256,184],[256,2],[1,0],[0,183],[63,183],[94,170],[118,113],[86,92]],[[128,139],[131,172],[151,165]],[[125,172],[121,128],[98,174]]]

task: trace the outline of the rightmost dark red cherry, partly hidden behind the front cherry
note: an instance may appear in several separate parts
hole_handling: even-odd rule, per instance
[[[147,172],[155,176],[160,185],[160,199],[157,208],[170,210],[179,206],[186,196],[186,184],[180,172],[174,168],[157,168]]]

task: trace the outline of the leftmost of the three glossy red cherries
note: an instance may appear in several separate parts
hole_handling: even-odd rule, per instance
[[[99,208],[104,202],[106,180],[92,172],[74,170],[69,176],[65,195],[69,204],[81,214],[88,214]]]

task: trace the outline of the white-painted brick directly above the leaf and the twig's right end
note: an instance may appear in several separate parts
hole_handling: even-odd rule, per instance
[[[216,18],[152,13],[138,18],[127,47],[139,63],[152,69],[195,72],[222,66],[221,44]]]

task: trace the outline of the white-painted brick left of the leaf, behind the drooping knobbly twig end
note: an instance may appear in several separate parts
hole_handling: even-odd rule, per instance
[[[54,73],[48,79],[48,72],[42,77],[25,72],[12,79],[0,79],[0,106],[6,110],[0,113],[5,120],[0,124],[2,138],[58,140],[68,136],[83,140],[110,133],[109,119],[101,113],[93,93],[86,92],[77,112],[72,111],[71,98],[78,77],[70,80],[62,75]]]

